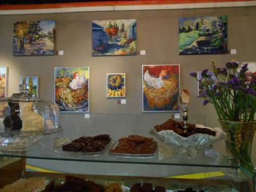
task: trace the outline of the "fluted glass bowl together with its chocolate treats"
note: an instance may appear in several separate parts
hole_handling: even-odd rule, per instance
[[[154,126],[151,134],[159,140],[174,147],[202,148],[218,140],[226,134],[219,128],[205,127],[200,124],[187,124],[184,129],[183,122],[168,119],[166,122]]]

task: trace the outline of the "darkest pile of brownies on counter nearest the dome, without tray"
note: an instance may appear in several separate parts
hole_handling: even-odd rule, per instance
[[[62,146],[63,151],[96,153],[104,151],[107,144],[111,142],[110,135],[97,135],[94,137],[79,137]]]

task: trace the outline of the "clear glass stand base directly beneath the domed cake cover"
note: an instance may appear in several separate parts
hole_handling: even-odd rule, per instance
[[[40,141],[41,132],[7,132],[0,133],[1,151],[27,151]]]

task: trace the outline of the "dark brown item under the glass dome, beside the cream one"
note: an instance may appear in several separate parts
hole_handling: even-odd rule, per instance
[[[12,130],[22,129],[22,120],[19,118],[19,105],[18,103],[8,102],[9,114],[4,119],[4,125]]]

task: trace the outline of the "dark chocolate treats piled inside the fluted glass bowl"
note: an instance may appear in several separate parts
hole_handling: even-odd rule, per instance
[[[216,132],[207,128],[198,128],[195,124],[187,124],[187,129],[183,128],[183,122],[175,121],[173,119],[168,119],[166,122],[156,125],[155,129],[157,132],[164,130],[172,130],[182,137],[189,137],[194,134],[207,134],[211,136],[216,136]]]

